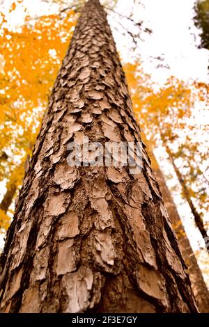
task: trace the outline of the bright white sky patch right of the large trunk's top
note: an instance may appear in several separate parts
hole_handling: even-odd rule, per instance
[[[117,11],[123,15],[129,13],[132,2],[118,0]],[[134,10],[134,21],[143,19],[146,27],[153,31],[138,45],[146,71],[162,83],[171,74],[179,79],[208,81],[208,51],[196,47],[200,40],[192,21],[194,0],[142,0],[142,3],[144,6]],[[123,56],[131,58],[127,43],[124,44],[118,33],[115,40]],[[156,68],[156,61],[150,64],[150,59],[157,56],[164,58],[164,65],[168,65],[169,69]]]

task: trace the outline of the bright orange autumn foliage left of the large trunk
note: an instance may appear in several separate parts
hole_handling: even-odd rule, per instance
[[[12,14],[22,0],[10,7]],[[24,8],[24,11],[27,11]],[[0,181],[13,182],[17,165],[21,184],[26,154],[36,141],[47,99],[70,42],[76,22],[72,10],[61,19],[45,15],[38,19],[26,16],[24,24],[12,29],[0,13]],[[1,213],[2,214],[2,213]]]

